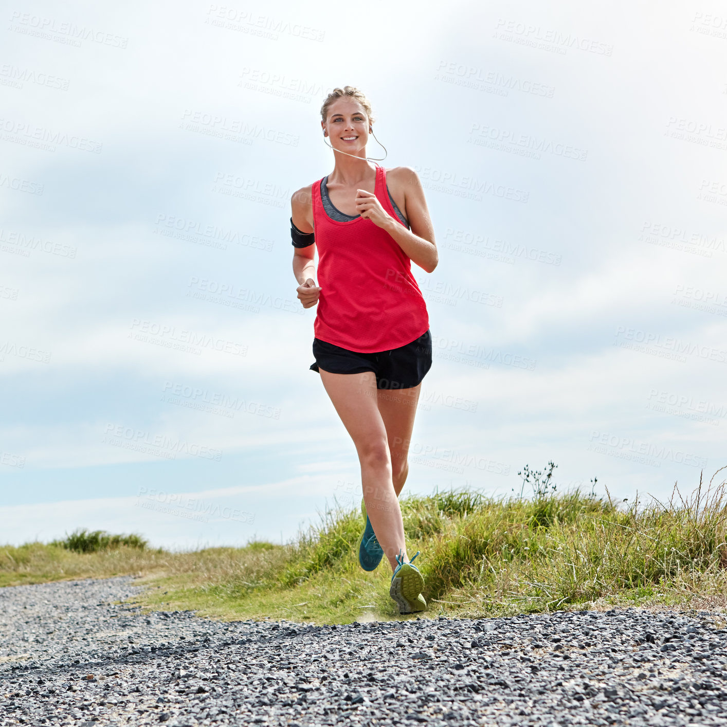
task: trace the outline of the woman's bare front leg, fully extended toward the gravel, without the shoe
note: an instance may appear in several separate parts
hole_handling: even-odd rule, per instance
[[[319,370],[326,393],[356,446],[366,513],[393,571],[396,568],[395,556],[400,551],[404,562],[409,558],[406,556],[401,510],[392,481],[387,429],[377,406],[376,377],[372,371],[332,374]]]

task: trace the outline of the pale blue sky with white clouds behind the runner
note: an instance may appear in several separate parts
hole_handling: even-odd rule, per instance
[[[358,502],[289,238],[346,84],[440,249],[407,491],[727,465],[724,4],[3,12],[0,542],[280,542]]]

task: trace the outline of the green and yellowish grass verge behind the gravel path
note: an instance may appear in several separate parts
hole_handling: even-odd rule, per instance
[[[675,487],[668,502],[627,505],[558,493],[549,466],[546,475],[524,471],[528,499],[450,491],[401,500],[409,553],[422,551],[427,616],[727,606],[725,482],[700,478],[686,498]],[[358,566],[362,525],[358,509],[336,505],[289,545],[189,553],[84,531],[49,545],[0,547],[0,585],[132,574],[148,586],[137,601],[148,608],[316,623],[398,618],[386,563],[374,573]]]

